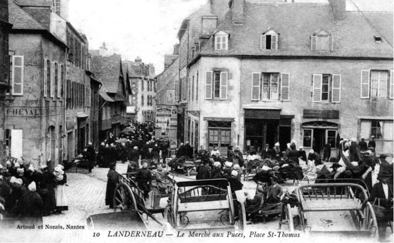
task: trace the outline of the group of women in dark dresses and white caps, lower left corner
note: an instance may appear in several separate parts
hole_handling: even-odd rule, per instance
[[[23,158],[0,164],[0,213],[29,225],[42,224],[42,217],[68,210],[67,176],[59,164],[54,172],[47,165],[34,169]]]

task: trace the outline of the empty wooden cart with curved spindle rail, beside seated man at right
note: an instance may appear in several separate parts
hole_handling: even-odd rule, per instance
[[[307,234],[336,233],[375,237],[378,228],[375,213],[368,202],[367,191],[356,183],[315,183],[296,189],[301,229]],[[292,221],[290,205],[284,207],[287,219]],[[289,224],[291,231],[294,226]]]

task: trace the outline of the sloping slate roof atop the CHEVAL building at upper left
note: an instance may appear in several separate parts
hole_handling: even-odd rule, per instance
[[[23,9],[16,5],[12,0],[8,0],[8,11],[9,23],[13,24],[12,29],[46,30],[43,25],[23,11]]]

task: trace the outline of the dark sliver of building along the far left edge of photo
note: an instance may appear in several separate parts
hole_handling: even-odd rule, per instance
[[[9,88],[8,35],[12,24],[8,22],[8,0],[0,0],[0,163],[7,156],[5,144],[5,94]]]

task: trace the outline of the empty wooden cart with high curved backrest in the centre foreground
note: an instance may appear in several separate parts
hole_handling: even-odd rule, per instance
[[[175,230],[235,231],[238,221],[243,231],[245,208],[235,202],[225,179],[178,182],[165,218]]]

